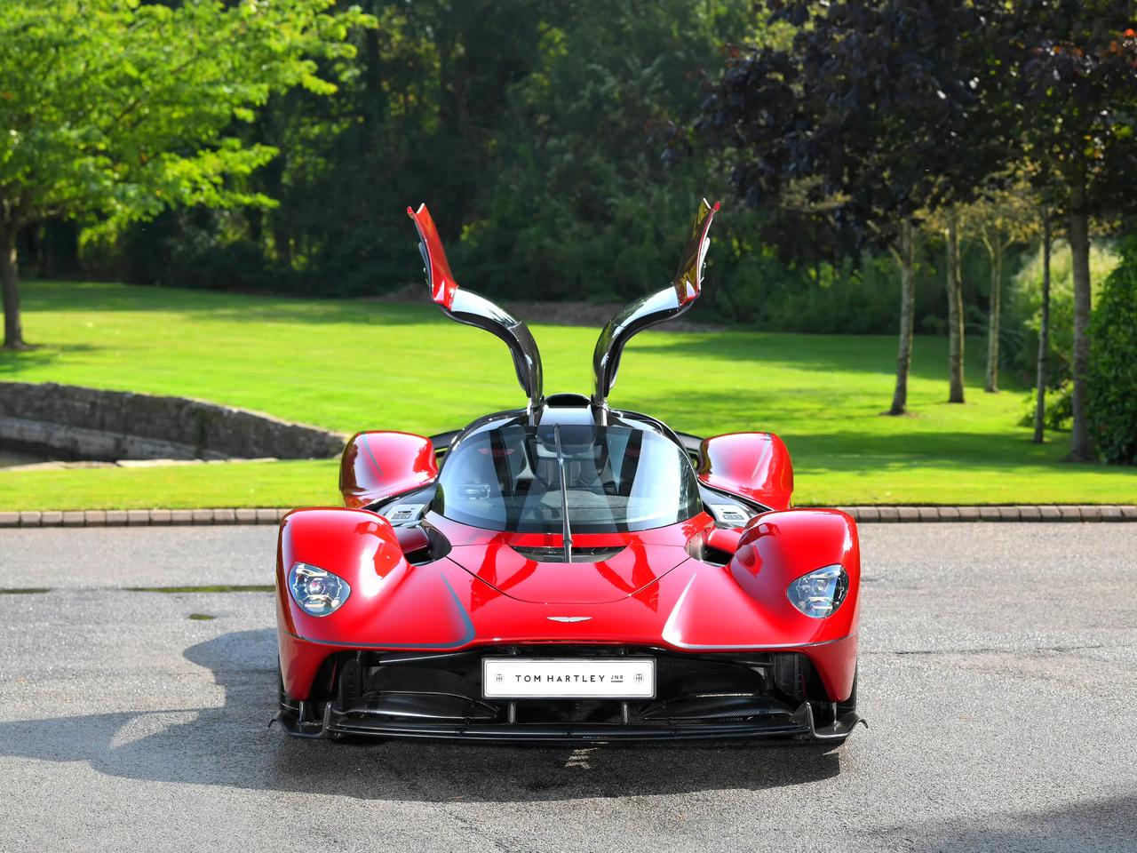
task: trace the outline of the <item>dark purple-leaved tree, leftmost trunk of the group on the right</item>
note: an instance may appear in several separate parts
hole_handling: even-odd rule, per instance
[[[730,63],[698,129],[732,162],[739,194],[775,204],[819,180],[835,224],[901,264],[901,339],[890,414],[907,407],[912,229],[922,208],[966,201],[1011,156],[977,78],[994,3],[839,0],[770,3],[797,31]],[[903,140],[903,143],[899,141]]]

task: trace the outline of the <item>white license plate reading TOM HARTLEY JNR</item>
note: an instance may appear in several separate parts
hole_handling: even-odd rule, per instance
[[[655,696],[653,657],[483,657],[485,698],[617,698]]]

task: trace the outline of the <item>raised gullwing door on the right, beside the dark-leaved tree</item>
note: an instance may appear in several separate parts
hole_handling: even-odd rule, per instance
[[[695,215],[691,235],[687,240],[682,258],[679,262],[679,272],[675,273],[671,287],[664,288],[658,293],[637,299],[604,326],[592,354],[594,405],[608,405],[608,395],[616,383],[616,371],[620,370],[620,355],[632,336],[648,326],[678,317],[691,306],[691,303],[698,299],[703,289],[703,264],[706,260],[707,248],[711,246],[707,232],[711,230],[711,221],[717,210],[717,201],[712,207],[706,199],[703,199],[698,213]]]

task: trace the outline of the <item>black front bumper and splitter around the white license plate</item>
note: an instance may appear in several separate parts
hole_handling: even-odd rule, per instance
[[[650,699],[488,699],[485,654],[650,654]],[[273,722],[294,737],[375,736],[508,742],[789,737],[843,740],[862,723],[855,694],[831,702],[800,653],[686,654],[662,648],[509,647],[460,653],[343,652],[322,696],[281,689]]]

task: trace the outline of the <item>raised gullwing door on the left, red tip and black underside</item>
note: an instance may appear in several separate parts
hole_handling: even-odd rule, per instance
[[[415,221],[415,227],[418,230],[418,250],[426,265],[426,283],[430,285],[431,299],[451,320],[484,329],[504,340],[513,355],[517,382],[529,397],[530,407],[539,406],[545,398],[541,354],[537,349],[537,341],[533,340],[529,326],[485,297],[458,287],[426,205],[420,205],[417,210],[408,207],[407,215]]]

